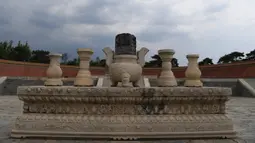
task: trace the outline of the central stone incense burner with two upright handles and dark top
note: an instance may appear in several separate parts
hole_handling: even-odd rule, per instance
[[[109,67],[109,75],[112,86],[119,82],[122,87],[129,87],[130,82],[138,87],[138,81],[142,76],[142,67],[145,64],[147,48],[141,48],[136,52],[136,37],[129,33],[118,34],[115,38],[115,52],[109,47],[103,49],[106,54],[106,65]]]

